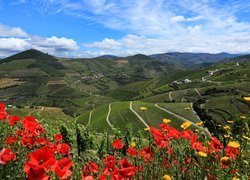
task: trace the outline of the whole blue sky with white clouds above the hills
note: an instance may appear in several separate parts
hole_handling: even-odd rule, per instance
[[[250,53],[250,0],[0,0],[0,57]]]

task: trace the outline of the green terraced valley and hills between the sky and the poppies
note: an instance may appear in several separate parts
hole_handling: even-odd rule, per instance
[[[242,99],[250,94],[248,56],[226,56],[221,61],[216,56],[209,67],[195,56],[195,63],[200,62],[196,69],[157,57],[63,59],[24,51],[0,61],[0,101],[9,105],[10,114],[40,116],[44,113],[40,107],[59,108],[63,115],[55,113],[49,123],[57,124],[65,116],[69,126],[77,123],[109,133],[129,127],[143,133],[164,118],[177,129],[187,120],[195,129],[202,120],[213,132],[227,120],[249,113],[250,105]],[[199,117],[197,108],[206,119]]]

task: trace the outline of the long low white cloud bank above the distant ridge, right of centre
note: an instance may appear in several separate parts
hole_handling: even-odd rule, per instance
[[[162,38],[147,38],[136,35],[127,35],[119,40],[116,40],[112,48],[105,47],[105,42],[98,43],[99,55],[113,54],[117,56],[127,56],[137,53],[155,54],[165,52],[210,52],[210,53],[247,53],[250,52],[250,37],[246,38],[246,34],[238,33],[228,37],[217,36],[212,39],[205,39],[202,35],[195,36],[200,27],[195,26],[190,28],[192,35],[175,37],[175,40]],[[103,43],[103,44],[102,44]],[[94,43],[94,45],[97,42]],[[93,47],[97,47],[94,46]],[[91,47],[91,44],[88,45]]]

